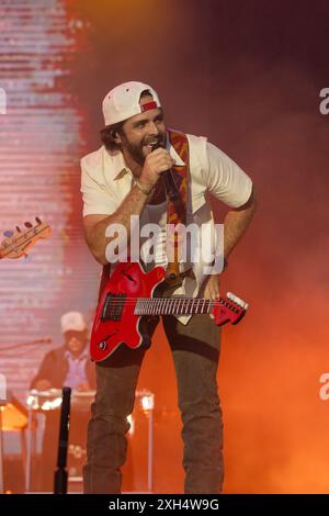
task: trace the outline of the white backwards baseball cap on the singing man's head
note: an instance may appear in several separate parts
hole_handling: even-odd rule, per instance
[[[140,93],[145,90],[150,92],[154,100],[140,105]],[[144,111],[161,108],[161,104],[158,93],[150,86],[132,80],[109,91],[102,106],[105,125],[112,125],[144,113]]]

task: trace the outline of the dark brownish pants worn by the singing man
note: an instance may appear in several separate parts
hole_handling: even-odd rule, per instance
[[[216,372],[220,329],[208,315],[194,315],[188,325],[163,316],[179,391],[184,444],[185,493],[219,493],[223,485],[223,423]],[[126,460],[135,390],[145,350],[122,345],[97,364],[97,396],[88,426],[86,493],[120,493]],[[174,458],[173,458],[174,461]]]

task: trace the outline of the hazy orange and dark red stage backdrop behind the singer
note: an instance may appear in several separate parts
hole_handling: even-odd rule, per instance
[[[223,332],[227,493],[329,492],[329,7],[224,0],[0,0],[0,227],[52,237],[0,262],[0,372],[25,389],[59,317],[94,310],[79,159],[115,85],[158,90],[167,123],[205,135],[254,180],[259,211],[222,290],[250,304]],[[214,204],[217,221],[225,210]],[[156,394],[155,491],[180,492],[180,418],[161,327],[139,388]]]

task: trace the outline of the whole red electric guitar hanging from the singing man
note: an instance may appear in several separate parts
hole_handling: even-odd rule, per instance
[[[237,324],[248,305],[231,293],[227,298],[156,298],[164,269],[156,267],[146,273],[137,262],[118,263],[105,285],[91,332],[91,358],[102,361],[125,344],[138,348],[148,338],[144,330],[146,316],[213,314],[220,326]]]

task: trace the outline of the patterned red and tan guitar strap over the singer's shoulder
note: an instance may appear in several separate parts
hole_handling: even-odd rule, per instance
[[[186,225],[188,187],[190,177],[189,165],[189,141],[184,133],[168,130],[170,143],[184,162],[183,166],[172,167],[172,175],[177,184],[179,197],[177,201],[167,198],[167,231],[166,248],[168,266],[166,269],[166,281],[169,285],[180,282],[180,259],[183,250],[184,233]],[[167,225],[167,228],[168,228]],[[181,231],[180,231],[181,227]]]

